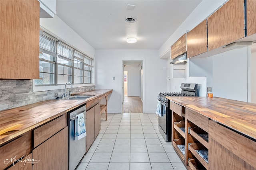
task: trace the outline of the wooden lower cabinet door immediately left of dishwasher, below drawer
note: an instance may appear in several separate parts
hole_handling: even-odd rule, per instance
[[[33,170],[68,170],[68,127],[32,151]]]

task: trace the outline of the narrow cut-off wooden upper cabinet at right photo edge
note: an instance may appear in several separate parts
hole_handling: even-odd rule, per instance
[[[247,36],[256,33],[256,1],[247,0]]]

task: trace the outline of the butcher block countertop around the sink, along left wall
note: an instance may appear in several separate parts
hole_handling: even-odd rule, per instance
[[[79,93],[81,95],[95,95],[86,100],[46,100],[0,111],[0,145],[60,115],[64,115],[78,106],[111,93],[112,90],[92,90]]]

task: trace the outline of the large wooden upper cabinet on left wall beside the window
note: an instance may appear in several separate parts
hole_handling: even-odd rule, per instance
[[[38,0],[0,0],[0,79],[39,78]]]

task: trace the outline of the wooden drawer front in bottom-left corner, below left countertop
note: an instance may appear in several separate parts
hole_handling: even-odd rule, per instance
[[[14,141],[0,147],[0,170],[10,166],[15,163],[11,159],[20,159],[26,154],[27,143],[26,135],[15,139]]]

